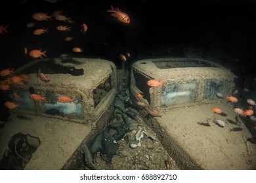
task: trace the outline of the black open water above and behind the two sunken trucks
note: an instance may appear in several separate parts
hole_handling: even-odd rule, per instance
[[[185,56],[184,48],[200,50],[238,75],[256,76],[254,1],[8,1],[1,8],[0,25],[9,24],[8,32],[0,35],[0,70],[18,68],[32,61],[24,56],[28,50],[47,50],[47,58],[68,54],[74,57],[109,59],[121,66],[119,54],[131,53],[129,64],[147,58]],[[85,3],[85,5],[83,5]],[[169,5],[170,4],[170,5]],[[111,16],[110,5],[129,14],[131,24],[122,24]],[[63,10],[74,24],[33,20],[35,12]],[[35,22],[35,27],[26,27]],[[80,31],[87,24],[86,35]],[[68,25],[70,32],[56,26]],[[49,28],[49,33],[33,35],[33,30]],[[74,37],[66,42],[65,37]],[[83,53],[72,52],[83,47]],[[216,53],[216,54],[215,54]],[[242,84],[242,82],[241,82]],[[1,101],[1,106],[3,101]],[[1,107],[3,113],[5,108]]]

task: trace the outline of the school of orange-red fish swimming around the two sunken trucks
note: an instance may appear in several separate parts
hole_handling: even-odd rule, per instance
[[[45,1],[47,1],[47,0],[45,0]],[[51,0],[51,1],[48,0],[48,1],[50,3],[56,3],[56,0]],[[114,18],[116,18],[116,20],[118,20],[117,22],[120,22],[120,24],[128,25],[131,23],[131,19],[130,19],[129,15],[117,7],[114,8],[112,5],[110,5],[110,9],[106,10],[106,12],[110,12],[111,16],[114,16]],[[39,25],[39,27],[37,29],[33,29],[33,31],[32,31],[33,35],[35,35],[35,36],[44,37],[46,34],[51,34],[51,31],[54,31],[54,30],[49,29],[49,27],[40,26],[41,22],[56,21],[56,22],[58,22],[58,25],[56,25],[56,29],[58,31],[63,31],[66,34],[64,41],[70,42],[70,41],[74,41],[74,39],[75,39],[70,34],[70,32],[72,32],[74,29],[74,26],[72,24],[74,24],[75,21],[72,18],[68,17],[68,15],[64,14],[64,10],[55,10],[52,14],[49,14],[49,12],[35,12],[34,14],[32,14],[32,20],[34,20],[35,22],[28,22],[28,24],[26,24],[26,27],[28,27],[28,29],[33,29],[33,27],[35,27],[35,25]],[[66,24],[68,24],[68,25],[66,25]],[[47,24],[44,24],[44,25],[47,25]],[[8,30],[9,28],[10,28],[9,24],[0,25],[0,36],[3,36],[5,34],[9,33],[9,30]],[[85,22],[81,22],[80,31],[83,35],[88,35],[87,34],[88,25]],[[82,53],[85,51],[79,45],[71,47],[70,50],[72,50],[75,53]],[[41,49],[41,48],[28,49],[28,47],[24,46],[24,55],[25,56],[29,55],[31,58],[44,58],[44,57],[47,57],[47,50]],[[131,55],[128,52],[125,54],[121,53],[121,54],[119,54],[119,59],[121,61],[126,62],[130,56]],[[7,77],[5,80],[0,81],[0,90],[1,91],[10,91],[10,92],[12,92],[12,95],[15,99],[20,99],[20,97],[22,97],[22,96],[20,96],[16,91],[12,91],[12,86],[26,85],[26,83],[28,82],[29,76],[15,75],[14,68],[2,69],[0,71],[0,76]],[[26,78],[24,78],[24,77],[26,77]],[[47,75],[45,75],[44,73],[41,72],[41,69],[38,70],[37,77],[40,78],[40,80],[45,83],[50,82]],[[151,79],[146,82],[146,84],[150,88],[165,87],[166,83],[167,82],[163,82],[163,81],[160,81],[157,79]],[[245,89],[244,89],[244,91],[246,92],[247,90],[245,90]],[[152,90],[150,90],[150,91],[152,91]],[[249,92],[249,90],[248,90],[248,92]],[[219,97],[219,99],[226,99],[226,101],[232,103],[235,106],[235,104],[238,103],[238,101],[239,101],[239,99],[234,96],[237,93],[238,93],[238,90],[234,91],[232,93],[232,95],[227,95],[226,97],[224,97],[224,95],[222,93],[216,93],[216,95],[217,95],[217,97]],[[33,101],[36,101],[36,102],[37,101],[42,101],[42,102],[47,101],[47,97],[43,97],[36,93],[33,93],[32,95],[30,95],[30,99],[32,99]],[[60,103],[76,104],[75,99],[72,99],[71,97],[68,97],[65,95],[59,96],[56,99],[56,101],[58,101]],[[252,122],[255,122],[256,117],[253,116],[253,114],[255,113],[253,110],[253,107],[254,108],[256,107],[256,102],[253,99],[246,99],[246,101],[249,105],[251,105],[251,107],[247,107],[247,109],[234,107],[234,112],[244,118],[249,116],[249,119]],[[144,93],[138,93],[137,104],[140,107],[148,107],[149,106],[146,99],[144,99]],[[7,101],[5,103],[5,107],[12,110],[12,109],[18,108],[19,104],[15,104],[15,103],[12,103],[11,101]],[[223,111],[221,110],[221,108],[212,107],[211,110],[213,110],[213,112],[215,112],[216,114],[223,114]],[[162,116],[159,112],[156,112],[156,111],[149,111],[149,114],[152,117],[161,117]],[[220,120],[219,121],[215,120],[215,122],[223,127],[225,125],[225,123],[221,122]]]

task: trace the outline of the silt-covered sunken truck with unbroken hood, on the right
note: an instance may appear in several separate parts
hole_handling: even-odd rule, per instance
[[[234,88],[232,72],[197,58],[143,59],[131,72],[133,103],[140,102],[140,114],[181,169],[255,169],[255,146],[247,142],[251,134],[242,122],[249,117],[236,114],[225,98]],[[148,86],[148,80],[162,85]]]

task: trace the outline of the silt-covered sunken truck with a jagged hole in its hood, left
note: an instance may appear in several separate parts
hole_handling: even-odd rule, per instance
[[[40,78],[39,72],[47,80]],[[26,159],[24,169],[61,169],[83,139],[104,126],[114,112],[112,103],[117,81],[112,61],[37,59],[16,69],[13,76],[23,79],[11,83],[11,90],[6,92],[6,100],[18,107],[11,110],[10,122],[0,129],[0,156],[8,154],[16,134],[36,137],[41,143],[31,159]],[[40,95],[44,100],[32,99],[32,94]],[[59,100],[62,96],[70,101]],[[18,144],[25,138],[19,137],[14,139]]]

